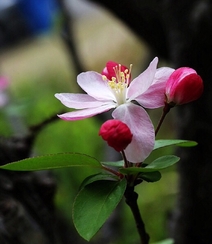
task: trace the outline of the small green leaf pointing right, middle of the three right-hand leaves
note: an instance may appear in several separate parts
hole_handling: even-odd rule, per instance
[[[151,162],[150,164],[148,164],[144,168],[142,168],[142,167],[129,167],[129,168],[125,168],[125,169],[120,169],[120,172],[121,173],[127,173],[127,174],[129,174],[129,173],[135,174],[138,172],[158,171],[158,170],[165,169],[165,168],[168,168],[168,167],[174,165],[179,160],[180,160],[180,158],[175,156],[175,155],[166,155],[166,156],[162,156],[160,158],[155,159],[153,162]]]

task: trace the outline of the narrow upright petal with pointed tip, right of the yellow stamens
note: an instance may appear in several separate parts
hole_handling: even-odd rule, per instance
[[[137,78],[132,80],[127,91],[127,98],[130,101],[144,93],[152,84],[155,77],[158,58],[154,58],[149,67],[141,73]]]

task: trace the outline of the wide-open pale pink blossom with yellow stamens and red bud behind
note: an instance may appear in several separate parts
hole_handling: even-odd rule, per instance
[[[164,105],[165,84],[174,71],[167,67],[157,69],[157,63],[155,58],[133,80],[130,70],[116,63],[115,66],[107,64],[103,75],[94,71],[81,73],[77,83],[87,94],[55,94],[65,106],[77,109],[59,117],[79,120],[115,109],[112,117],[127,124],[133,134],[125,150],[127,159],[132,163],[143,162],[153,150],[155,140],[154,127],[144,108]]]

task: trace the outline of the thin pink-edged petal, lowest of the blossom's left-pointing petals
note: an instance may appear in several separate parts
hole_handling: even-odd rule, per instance
[[[101,114],[103,112],[106,112],[110,110],[111,108],[115,108],[116,104],[114,103],[108,103],[105,105],[102,105],[100,107],[96,108],[87,108],[87,109],[82,109],[82,110],[77,110],[73,112],[68,112],[65,114],[60,114],[58,117],[60,117],[63,120],[81,120],[81,119],[86,119],[90,118],[94,115]]]

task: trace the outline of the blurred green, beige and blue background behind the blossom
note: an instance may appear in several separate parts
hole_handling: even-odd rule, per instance
[[[106,62],[113,60],[126,66],[133,64],[135,77],[151,58],[148,47],[124,24],[103,8],[80,0],[1,0],[0,52],[0,77],[8,82],[4,89],[7,101],[0,108],[0,136],[6,138],[24,136],[30,126],[64,111],[54,94],[81,92],[76,84],[80,71],[101,72]],[[166,64],[160,60],[159,65]],[[155,125],[160,114],[161,110],[150,111]],[[98,136],[101,122],[99,118],[54,120],[37,135],[32,155],[81,152],[103,161],[107,146]],[[174,131],[171,111],[158,139],[173,138]],[[167,149],[157,153],[171,152]],[[70,235],[77,235],[71,220],[74,197],[90,173],[54,171],[58,183],[55,204],[70,225]],[[143,183],[136,191],[151,243],[167,238],[177,194],[175,168],[164,170],[159,182]],[[110,238],[108,234],[105,243],[138,242],[133,217],[124,201],[119,206],[116,227],[117,236]],[[99,243],[99,235],[91,243]],[[86,242],[79,237],[75,243]]]

